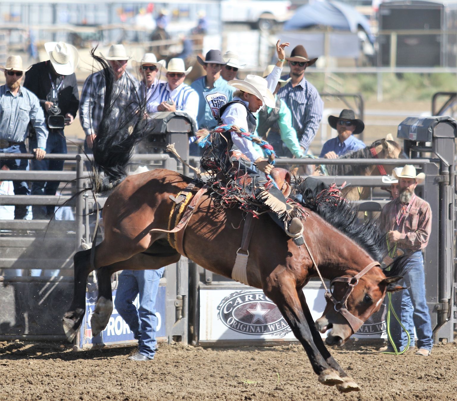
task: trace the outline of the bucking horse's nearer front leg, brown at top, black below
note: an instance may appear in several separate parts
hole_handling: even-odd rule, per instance
[[[314,343],[313,334],[298,298],[295,280],[275,277],[271,282],[274,284],[264,288],[265,295],[275,302],[295,337],[302,343],[314,372],[319,375],[319,382],[325,385],[343,383],[339,372],[329,366]]]

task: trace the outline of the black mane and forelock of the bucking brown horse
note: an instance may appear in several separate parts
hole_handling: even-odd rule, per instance
[[[293,198],[300,201],[307,209],[314,211],[326,222],[331,224],[340,232],[350,237],[374,259],[381,262],[387,254],[387,243],[385,233],[375,222],[368,220],[363,223],[358,222],[358,209],[344,198],[335,196],[331,190],[321,191],[319,180],[312,179],[313,184],[305,183],[301,177],[295,177],[292,186],[295,195]],[[310,190],[310,188],[312,188]],[[314,190],[316,189],[316,190]],[[407,259],[397,258],[390,266],[389,270],[384,270],[387,277],[403,276]]]

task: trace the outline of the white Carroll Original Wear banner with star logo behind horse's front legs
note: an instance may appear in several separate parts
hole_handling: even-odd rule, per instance
[[[277,306],[262,290],[252,287],[200,287],[199,343],[217,341],[296,340]],[[316,320],[325,308],[324,287],[311,285],[303,290],[309,309]],[[374,314],[353,337],[385,338],[384,307]],[[327,334],[322,334],[326,337]]]

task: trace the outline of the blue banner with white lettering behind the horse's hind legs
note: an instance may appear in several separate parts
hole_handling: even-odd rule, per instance
[[[116,299],[116,290],[113,290],[113,302]],[[113,309],[110,320],[103,330],[96,337],[92,337],[92,328],[90,327],[90,318],[94,312],[95,305],[97,302],[97,291],[86,292],[86,313],[84,316],[83,323],[80,328],[79,338],[77,338],[75,347],[76,349],[86,349],[93,347],[116,347],[125,345],[134,345],[137,340],[133,337],[133,332],[130,331],[128,324],[122,319],[117,313],[116,308]],[[157,293],[157,299],[155,302],[157,322],[157,338],[165,337],[165,296],[166,287],[165,285],[159,286]],[[138,296],[133,301],[138,309]]]

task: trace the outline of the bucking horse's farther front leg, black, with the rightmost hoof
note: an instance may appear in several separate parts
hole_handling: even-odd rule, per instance
[[[351,376],[347,375],[347,373],[341,368],[340,364],[338,364],[335,358],[332,357],[327,347],[325,347],[324,341],[322,341],[322,337],[320,336],[319,330],[315,326],[313,317],[311,315],[311,311],[309,311],[309,307],[306,302],[305,295],[303,294],[303,290],[298,291],[298,298],[300,299],[300,303],[302,305],[306,321],[308,322],[309,329],[311,331],[311,334],[313,335],[314,344],[319,349],[320,354],[324,357],[325,362],[327,362],[327,364],[329,364],[329,366],[332,369],[337,370],[341,376],[341,379],[343,379],[343,383],[336,385],[336,388],[343,392],[360,390],[359,386],[356,384],[354,379],[352,379]]]

